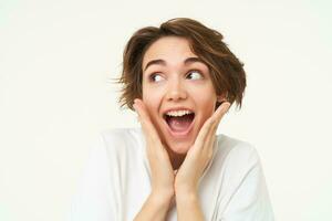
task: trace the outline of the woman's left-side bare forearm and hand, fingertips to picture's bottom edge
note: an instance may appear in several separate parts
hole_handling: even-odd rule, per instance
[[[144,103],[135,99],[134,108],[145,134],[152,179],[152,193],[135,217],[135,221],[165,220],[174,197],[174,171],[167,151],[151,122]]]

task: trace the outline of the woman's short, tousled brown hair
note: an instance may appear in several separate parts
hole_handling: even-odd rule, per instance
[[[121,107],[133,109],[134,99],[142,97],[144,54],[163,36],[186,38],[193,52],[209,67],[216,94],[227,95],[230,104],[236,102],[241,108],[246,88],[243,64],[222,42],[224,36],[218,31],[188,18],[168,20],[159,28],[146,27],[132,35],[123,53],[122,76],[117,80],[117,83],[123,84]]]

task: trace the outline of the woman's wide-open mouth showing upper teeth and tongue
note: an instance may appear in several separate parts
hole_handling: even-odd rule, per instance
[[[164,119],[174,137],[185,137],[194,125],[195,113],[187,109],[169,110],[164,114]]]

